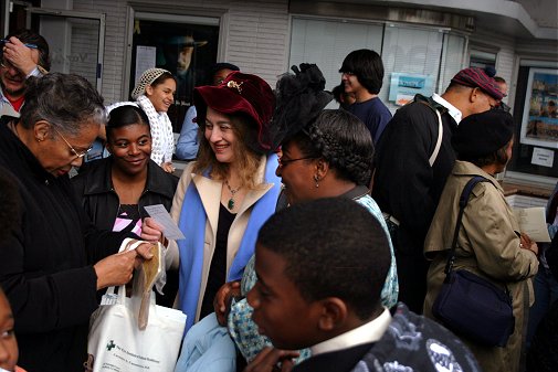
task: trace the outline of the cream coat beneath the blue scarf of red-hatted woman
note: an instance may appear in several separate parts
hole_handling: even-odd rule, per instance
[[[257,169],[256,179],[259,182],[264,181],[265,177],[265,156],[262,157],[262,161],[260,162],[260,167]],[[198,310],[196,313],[196,321],[199,320],[200,310],[201,310],[201,301],[203,299],[203,294],[206,293],[206,286],[208,283],[209,268],[211,264],[211,258],[213,257],[213,252],[215,249],[215,241],[217,241],[217,226],[219,222],[219,208],[221,203],[221,191],[223,188],[223,182],[214,181],[202,174],[192,173],[194,162],[188,163],[186,167],[182,177],[177,187],[177,191],[175,193],[175,199],[172,200],[172,208],[170,210],[170,215],[172,220],[178,224],[180,219],[180,213],[182,211],[182,202],[186,195],[186,191],[190,183],[193,182],[196,189],[198,190],[201,202],[203,204],[203,209],[208,215],[208,220],[206,221],[206,237],[203,245],[203,270],[202,270],[202,280],[200,288],[200,297],[198,299]],[[229,240],[227,245],[227,273],[231,268],[231,264],[239,251],[240,243],[244,235],[244,231],[248,225],[248,221],[250,219],[250,213],[252,212],[252,206],[256,201],[259,201],[271,188],[273,183],[262,184],[257,190],[250,190],[244,200],[242,201],[242,205],[240,206],[236,216],[231,224],[231,228],[229,230]],[[188,205],[185,205],[188,208]],[[186,236],[188,238],[188,236]],[[175,241],[169,242],[169,246],[167,248],[167,268],[178,268],[179,265],[188,265],[188,263],[182,263],[179,261],[179,252],[178,245]]]

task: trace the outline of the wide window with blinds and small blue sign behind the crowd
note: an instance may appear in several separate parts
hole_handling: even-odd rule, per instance
[[[417,93],[430,96],[445,89],[462,68],[466,38],[427,26],[293,18],[289,65],[316,63],[327,89],[340,83],[338,71],[345,56],[365,47],[382,57],[379,97],[394,113]]]

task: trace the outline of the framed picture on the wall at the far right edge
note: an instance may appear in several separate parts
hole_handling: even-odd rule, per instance
[[[519,141],[558,149],[558,68],[530,68]]]

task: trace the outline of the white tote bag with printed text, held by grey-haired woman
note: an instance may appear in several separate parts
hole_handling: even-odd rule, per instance
[[[173,371],[182,340],[186,315],[156,306],[151,293],[149,321],[138,327],[134,299],[125,287],[108,288],[101,307],[92,315],[86,371]]]

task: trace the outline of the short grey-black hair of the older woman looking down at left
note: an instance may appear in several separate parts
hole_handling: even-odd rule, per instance
[[[86,123],[105,124],[106,111],[103,97],[85,77],[49,73],[27,79],[20,120],[27,129],[46,120],[60,131],[76,136]]]

